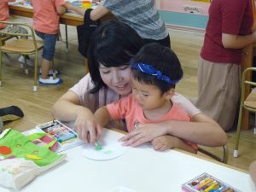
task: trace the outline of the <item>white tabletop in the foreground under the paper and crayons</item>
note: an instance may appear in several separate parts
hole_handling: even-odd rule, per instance
[[[104,140],[123,135],[104,131]],[[119,158],[106,161],[88,160],[84,145],[65,151],[67,161],[36,177],[21,192],[110,192],[124,186],[132,192],[177,192],[181,185],[203,172],[229,183],[244,192],[253,192],[253,182],[246,172],[213,163],[176,150],[154,151],[149,145],[127,148]],[[1,192],[11,190],[1,188]],[[114,192],[119,190],[114,190]]]

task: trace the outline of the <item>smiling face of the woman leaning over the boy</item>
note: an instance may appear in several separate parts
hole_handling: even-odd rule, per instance
[[[102,80],[108,87],[121,96],[131,93],[131,67],[124,65],[120,67],[99,67]]]

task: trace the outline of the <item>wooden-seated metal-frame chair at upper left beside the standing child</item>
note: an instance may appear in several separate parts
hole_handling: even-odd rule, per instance
[[[44,48],[43,42],[36,40],[35,32],[32,26],[29,26],[26,23],[18,23],[18,22],[11,22],[11,21],[0,21],[0,23],[7,24],[7,25],[21,26],[28,30],[27,34],[17,33],[17,32],[0,32],[1,35],[12,38],[4,41],[4,44],[2,41],[0,41],[0,86],[2,85],[3,54],[35,55],[33,91],[37,91],[38,90],[38,51]],[[13,40],[13,37],[17,37],[17,36],[20,38]],[[25,67],[27,67],[26,63],[25,63]]]

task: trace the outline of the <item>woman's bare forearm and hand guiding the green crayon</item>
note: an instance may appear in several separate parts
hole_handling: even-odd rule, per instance
[[[96,125],[94,114],[80,105],[79,96],[68,90],[53,106],[53,115],[63,121],[74,121],[79,138],[86,143],[95,143],[101,137],[102,129]]]

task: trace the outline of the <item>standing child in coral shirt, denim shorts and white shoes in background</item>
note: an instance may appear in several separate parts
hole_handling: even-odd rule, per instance
[[[55,55],[55,44],[59,32],[60,15],[66,12],[64,0],[31,0],[33,7],[33,27],[38,37],[44,40],[39,84],[61,84],[62,79],[49,75],[58,74],[49,70]]]

